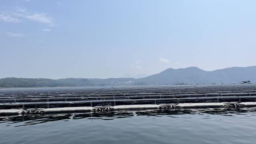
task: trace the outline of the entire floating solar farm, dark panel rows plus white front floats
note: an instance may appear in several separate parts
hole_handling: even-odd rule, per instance
[[[10,113],[239,107],[255,103],[256,84],[0,89],[0,110]]]

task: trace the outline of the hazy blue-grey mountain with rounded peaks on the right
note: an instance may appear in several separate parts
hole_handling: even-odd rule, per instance
[[[197,67],[168,68],[159,74],[138,79],[146,84],[207,84],[256,81],[256,66],[232,67],[221,70],[204,71]]]

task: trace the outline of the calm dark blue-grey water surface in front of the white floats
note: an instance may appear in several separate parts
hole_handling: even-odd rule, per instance
[[[255,144],[256,108],[0,117],[1,144]]]

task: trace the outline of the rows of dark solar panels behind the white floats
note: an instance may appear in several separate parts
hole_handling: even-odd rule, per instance
[[[0,89],[0,109],[255,101],[256,84]]]

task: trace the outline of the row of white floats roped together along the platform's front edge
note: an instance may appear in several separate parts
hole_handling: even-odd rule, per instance
[[[149,110],[149,109],[170,109],[170,108],[222,108],[222,107],[250,107],[256,106],[256,102],[221,102],[221,103],[183,103],[183,104],[135,104],[120,106],[84,106],[84,107],[63,107],[63,108],[36,108],[27,110],[0,110],[0,114],[49,114],[49,113],[70,113],[70,112],[98,112],[98,111],[122,111],[122,110]]]

